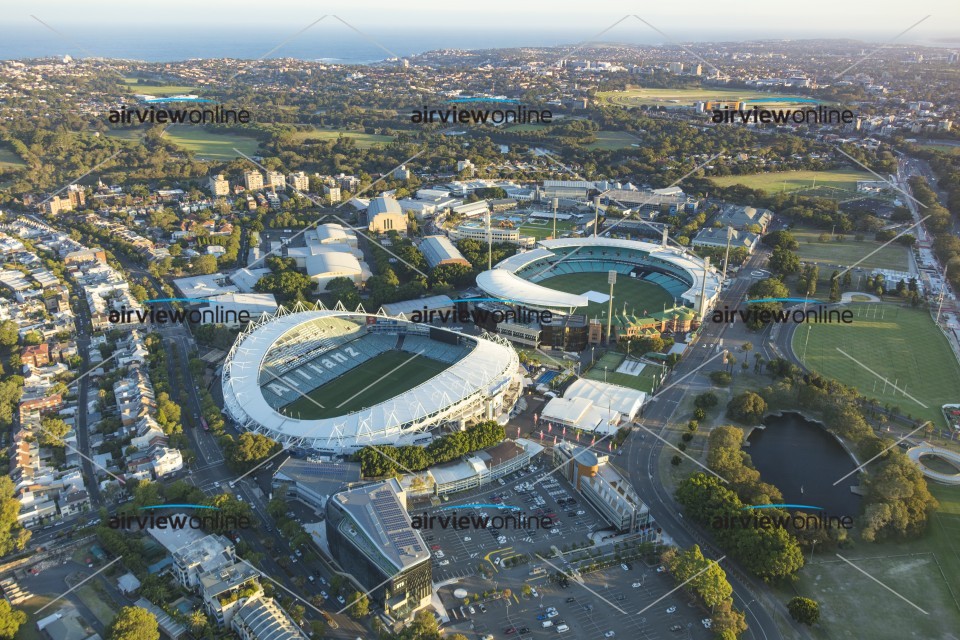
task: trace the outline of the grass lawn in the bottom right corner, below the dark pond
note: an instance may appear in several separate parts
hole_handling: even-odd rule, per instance
[[[799,573],[795,592],[820,603],[815,638],[954,638],[960,629],[960,487],[930,485],[940,501],[927,531],[918,539],[870,544],[858,541],[840,550],[844,558],[907,598],[904,602],[849,564],[836,552],[815,553]]]

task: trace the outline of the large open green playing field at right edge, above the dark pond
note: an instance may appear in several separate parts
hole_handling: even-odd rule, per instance
[[[946,426],[940,406],[960,398],[960,364],[930,313],[890,303],[856,303],[847,308],[854,313],[851,324],[812,323],[799,327],[793,337],[794,353],[811,369],[853,385],[867,397],[899,406],[904,413],[932,420],[938,427]],[[883,380],[838,348],[887,377],[927,408],[895,391],[890,384],[885,388]]]

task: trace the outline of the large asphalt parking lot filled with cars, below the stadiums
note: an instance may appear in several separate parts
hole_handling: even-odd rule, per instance
[[[559,523],[558,533],[504,527],[494,535],[484,529],[442,529],[436,524],[433,529],[422,531],[435,556],[434,582],[449,583],[440,589],[440,596],[457,631],[466,630],[467,637],[478,639],[487,635],[495,638],[712,637],[701,623],[707,613],[690,602],[683,591],[640,613],[675,587],[673,579],[666,573],[658,573],[656,566],[633,562],[625,571],[615,565],[586,574],[582,583],[569,580],[566,588],[548,579],[557,569],[568,571],[563,560],[552,557],[554,548],[563,551],[574,543],[586,543],[591,534],[607,529],[603,518],[558,473],[540,479],[541,474],[552,468],[541,462],[536,471],[510,476],[504,485],[495,482],[482,490],[457,494],[442,506],[426,510],[427,515],[434,516],[451,516],[456,511],[457,516],[472,513],[493,517],[513,513],[508,506],[520,507],[527,515],[554,514],[554,521]],[[518,485],[534,482],[528,491],[517,490]],[[571,504],[568,500],[576,502]],[[457,505],[464,507],[456,509]],[[537,514],[538,509],[542,514]],[[512,568],[502,564],[520,555],[527,556],[529,562]],[[480,574],[480,565],[489,569],[491,578]],[[538,575],[531,575],[534,569]],[[532,588],[529,595],[524,595],[524,585]],[[453,596],[457,588],[468,592],[470,604],[464,605]],[[484,591],[504,588],[512,592],[509,600],[482,598]],[[676,608],[668,611],[671,607]],[[544,626],[547,622],[550,624]],[[607,636],[611,631],[613,634]]]

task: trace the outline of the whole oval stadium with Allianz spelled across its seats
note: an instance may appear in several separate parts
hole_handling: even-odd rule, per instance
[[[522,378],[499,336],[298,305],[251,323],[221,382],[224,409],[240,428],[285,446],[349,453],[500,419]]]

